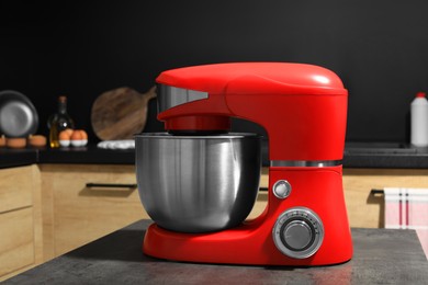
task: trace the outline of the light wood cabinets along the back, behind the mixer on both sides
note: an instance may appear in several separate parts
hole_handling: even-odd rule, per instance
[[[137,189],[89,189],[87,183],[136,183],[134,166],[41,164],[44,253],[50,259],[148,218]],[[268,168],[260,186],[267,187]],[[345,200],[351,227],[384,227],[384,198],[370,192],[383,187],[428,187],[426,169],[343,169]],[[249,215],[255,218],[268,204],[260,191]]]

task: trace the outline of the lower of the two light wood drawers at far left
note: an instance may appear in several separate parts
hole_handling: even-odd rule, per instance
[[[32,207],[0,214],[0,276],[34,263]]]

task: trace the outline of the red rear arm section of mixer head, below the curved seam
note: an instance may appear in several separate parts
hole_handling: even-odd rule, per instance
[[[307,77],[312,84],[283,83],[254,75],[235,78],[227,84],[226,104],[233,116],[266,128],[270,160],[342,158],[347,91],[316,86],[322,75]]]

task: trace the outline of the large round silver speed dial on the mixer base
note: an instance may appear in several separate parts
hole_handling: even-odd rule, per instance
[[[277,248],[294,259],[306,259],[322,246],[324,227],[320,218],[306,207],[285,210],[272,230]]]

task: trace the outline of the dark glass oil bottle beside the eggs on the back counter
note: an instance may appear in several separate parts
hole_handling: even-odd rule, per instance
[[[67,98],[58,98],[58,111],[47,121],[49,127],[49,145],[52,148],[59,147],[59,133],[66,128],[75,128],[75,123],[67,113]]]

